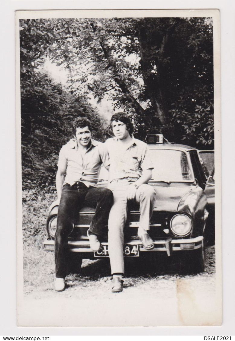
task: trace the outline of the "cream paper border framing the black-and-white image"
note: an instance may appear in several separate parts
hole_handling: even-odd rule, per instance
[[[220,19],[218,10],[100,10],[100,11],[17,11],[16,12],[16,123],[17,123],[17,184],[21,183],[21,158],[20,158],[20,83],[19,83],[19,19],[34,18],[111,18],[111,17],[212,17],[213,18],[213,46],[214,46],[214,92],[215,92],[215,176],[216,176],[216,287],[215,301],[208,308],[207,321],[205,324],[220,325],[222,315],[221,305],[221,153],[220,153]],[[102,302],[97,298],[94,300],[68,300],[64,301],[58,297],[55,299],[34,299],[28,300],[23,292],[23,235],[22,235],[22,191],[21,186],[17,188],[17,321],[19,326],[180,326],[181,322],[175,318],[169,309],[173,301],[169,303],[158,300],[146,300],[146,298],[136,297],[136,299],[106,300],[106,311],[100,311]],[[217,242],[218,241],[218,242]],[[99,293],[97,292],[97,296]],[[171,303],[170,303],[171,302]],[[53,305],[50,308],[50,305]],[[113,305],[115,304],[115,309]],[[160,309],[156,306],[161,304]],[[189,305],[192,303],[189,301]],[[30,305],[34,306],[34,312],[30,311]],[[188,310],[186,307],[183,310]],[[76,306],[79,308],[76,310]],[[175,302],[175,310],[179,309],[180,303]],[[134,309],[133,314],[125,316],[122,311],[128,311],[129,307],[144,307],[144,309]],[[195,307],[196,308],[196,307]],[[74,314],[73,311],[76,311]],[[42,314],[42,311],[44,312]],[[48,311],[48,313],[47,313]],[[63,313],[64,312],[64,313]],[[193,316],[191,323],[201,316]],[[201,312],[198,310],[198,314]],[[123,315],[123,316],[122,316]],[[211,315],[211,318],[208,316]]]

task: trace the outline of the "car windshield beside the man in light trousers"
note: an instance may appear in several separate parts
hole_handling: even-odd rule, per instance
[[[153,181],[194,181],[192,167],[185,152],[170,149],[150,149],[153,162]]]

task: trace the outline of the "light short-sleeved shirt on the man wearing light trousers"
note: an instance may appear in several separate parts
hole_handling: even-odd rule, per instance
[[[109,152],[109,182],[128,178],[130,181],[139,179],[146,169],[153,169],[146,143],[133,138],[126,149],[120,148],[117,138],[109,138],[105,142]]]

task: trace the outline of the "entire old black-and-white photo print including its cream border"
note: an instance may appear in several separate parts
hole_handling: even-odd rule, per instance
[[[16,12],[19,326],[221,325],[218,32]]]

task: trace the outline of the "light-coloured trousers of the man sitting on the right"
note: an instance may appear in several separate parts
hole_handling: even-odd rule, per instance
[[[109,259],[111,273],[124,273],[124,226],[127,219],[127,198],[126,192],[132,182],[127,179],[114,180],[109,184],[113,192],[114,203],[109,213]],[[152,186],[142,184],[136,191],[135,199],[140,204],[139,227],[149,230],[149,221],[152,217],[155,191]]]

